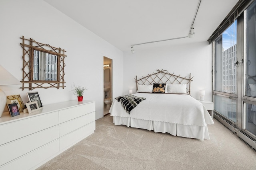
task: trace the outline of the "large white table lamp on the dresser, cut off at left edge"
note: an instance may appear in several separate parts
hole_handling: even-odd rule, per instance
[[[22,84],[17,80],[10,72],[0,65],[0,86],[17,85]],[[6,106],[6,94],[0,89],[0,117],[4,112]]]

